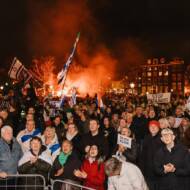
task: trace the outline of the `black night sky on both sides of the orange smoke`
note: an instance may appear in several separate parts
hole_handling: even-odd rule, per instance
[[[38,0],[42,1],[42,0]],[[54,3],[56,0],[43,0]],[[2,0],[0,6],[0,65],[12,57],[29,61],[26,40],[27,0]],[[110,49],[118,41],[138,39],[147,55],[179,56],[190,61],[189,0],[88,0],[100,38]]]

